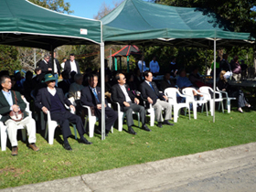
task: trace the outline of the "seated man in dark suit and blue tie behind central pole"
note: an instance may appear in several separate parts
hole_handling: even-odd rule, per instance
[[[94,108],[95,116],[100,119],[101,122],[101,88],[97,87],[98,76],[91,74],[88,79],[89,86],[86,86],[81,90],[80,102],[82,105],[87,105]],[[104,94],[104,93],[103,93]],[[105,123],[106,123],[106,136],[110,132],[113,123],[117,119],[117,112],[114,112],[112,108],[108,106],[108,101],[105,100]],[[101,131],[98,129],[98,132]]]

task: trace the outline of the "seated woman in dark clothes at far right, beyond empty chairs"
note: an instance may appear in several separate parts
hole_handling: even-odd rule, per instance
[[[225,77],[225,73],[226,73],[225,70],[221,70],[221,72],[219,74],[219,81],[217,82],[217,86],[220,91],[227,91],[229,94],[229,97],[237,98],[238,111],[242,113],[243,112],[241,109],[242,107],[244,107],[244,106],[251,107],[251,105],[246,100],[243,91],[233,88],[229,85],[227,77]]]

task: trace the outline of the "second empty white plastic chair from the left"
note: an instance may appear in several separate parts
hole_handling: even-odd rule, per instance
[[[197,93],[197,95],[203,96],[203,100],[196,101],[194,97],[194,91]],[[187,95],[187,100],[189,103],[193,104],[193,114],[194,114],[194,119],[197,119],[197,104],[202,104],[206,105],[206,111],[208,115],[208,101],[205,99],[207,97],[207,94],[198,92],[195,88],[185,88],[182,90],[182,93],[184,95]]]

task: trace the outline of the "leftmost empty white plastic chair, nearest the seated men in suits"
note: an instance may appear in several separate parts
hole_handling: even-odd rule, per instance
[[[190,109],[189,109],[188,100],[186,99],[186,102],[178,103],[176,101],[177,95],[180,96],[180,97],[189,98],[186,95],[180,94],[179,91],[176,88],[167,88],[167,89],[165,89],[165,96],[168,97],[168,101],[172,104],[172,106],[174,106],[174,123],[177,122],[178,113],[179,113],[179,110],[181,108],[187,108],[188,109],[188,116],[189,116],[189,120],[190,120]]]

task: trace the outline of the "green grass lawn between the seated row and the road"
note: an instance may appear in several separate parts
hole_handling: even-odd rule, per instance
[[[0,188],[17,187],[26,184],[95,173],[102,170],[126,165],[170,158],[180,155],[195,154],[208,150],[238,144],[256,142],[256,112],[246,111],[241,114],[233,108],[230,113],[216,112],[216,123],[206,112],[197,112],[197,120],[188,120],[188,115],[181,115],[175,126],[163,128],[151,127],[148,133],[134,127],[137,135],[124,131],[110,133],[105,141],[98,134],[89,138],[93,144],[79,144],[74,136],[69,138],[73,151],[64,150],[59,141],[59,132],[53,145],[37,133],[37,146],[34,152],[27,144],[18,141],[18,155],[11,156],[7,147],[0,152]],[[134,121],[137,125],[137,122]],[[44,135],[44,134],[43,134]],[[88,136],[86,136],[88,138]],[[10,146],[10,144],[9,144]]]

